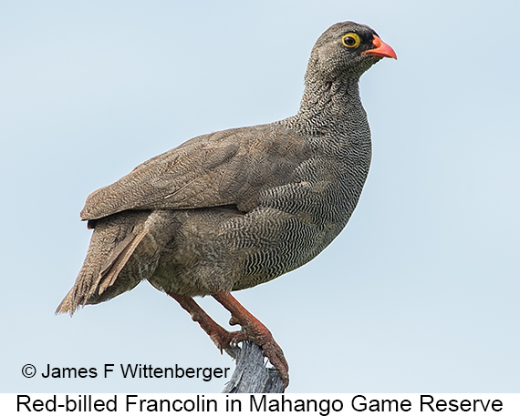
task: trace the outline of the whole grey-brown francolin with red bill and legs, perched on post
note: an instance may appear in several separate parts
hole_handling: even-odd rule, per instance
[[[221,353],[259,345],[286,387],[283,350],[231,292],[303,266],[347,225],[371,158],[359,77],[383,57],[397,59],[368,25],[332,25],[311,50],[295,116],[194,137],[92,192],[80,213],[93,229],[87,256],[56,313],[148,280]],[[241,330],[216,323],[193,299],[203,296]]]

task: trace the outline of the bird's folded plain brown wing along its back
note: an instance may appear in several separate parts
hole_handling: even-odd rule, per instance
[[[90,194],[80,215],[224,205],[249,211],[262,190],[290,181],[307,153],[302,137],[271,125],[194,137]]]

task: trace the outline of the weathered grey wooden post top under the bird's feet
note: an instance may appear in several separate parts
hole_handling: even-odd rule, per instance
[[[236,368],[223,393],[283,393],[284,383],[280,373],[265,367],[262,349],[250,340],[242,342],[242,348],[226,350],[235,355]]]

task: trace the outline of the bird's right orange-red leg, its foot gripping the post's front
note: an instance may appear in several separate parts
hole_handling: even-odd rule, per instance
[[[252,340],[256,345],[262,347],[264,355],[271,361],[282,376],[284,386],[287,387],[289,384],[289,366],[286,358],[284,357],[284,351],[276,343],[271,331],[267,330],[265,325],[257,320],[251,312],[245,309],[238,300],[234,299],[231,294],[226,293],[224,290],[214,293],[213,298],[221,303],[225,309],[231,312],[230,325],[240,324],[244,331],[244,338]]]

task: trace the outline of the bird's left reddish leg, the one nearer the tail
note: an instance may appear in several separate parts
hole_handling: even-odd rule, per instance
[[[187,310],[188,313],[192,315],[192,320],[199,323],[201,328],[210,336],[221,353],[228,347],[233,346],[241,340],[244,340],[244,332],[229,332],[228,330],[224,330],[223,327],[212,320],[212,318],[206,312],[204,312],[204,310],[197,304],[197,302],[195,302],[195,300],[189,296],[180,296],[171,292],[166,293],[168,296],[171,296],[173,299],[177,300],[182,308]],[[230,355],[233,354],[230,353]]]

